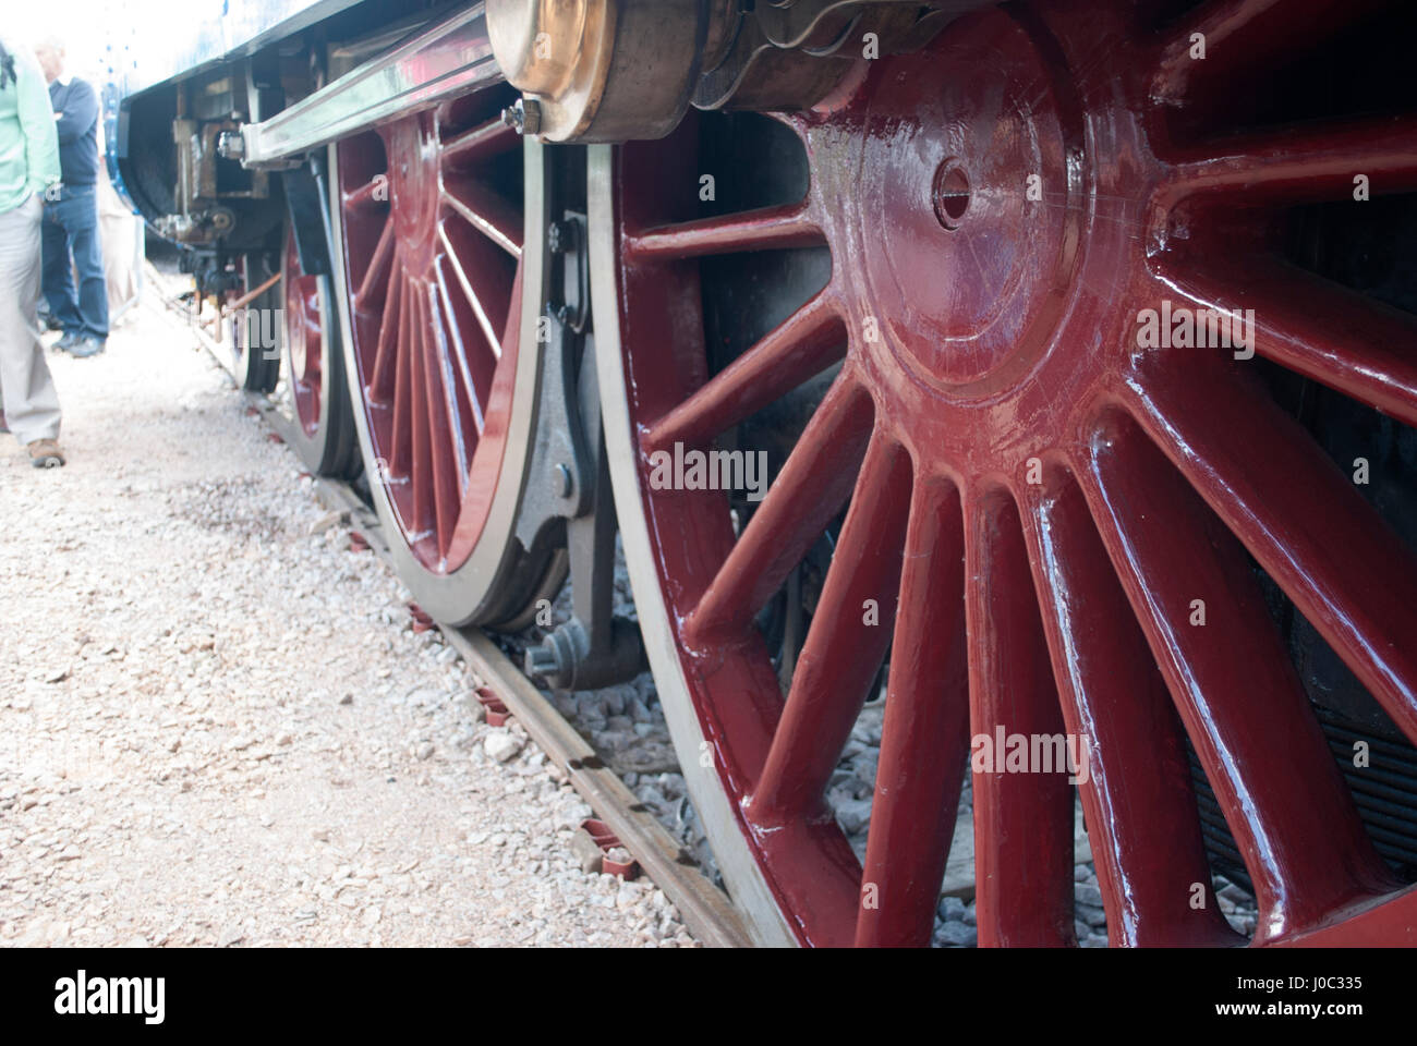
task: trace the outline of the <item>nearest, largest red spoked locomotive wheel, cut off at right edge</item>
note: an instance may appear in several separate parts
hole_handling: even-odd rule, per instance
[[[996,729],[1085,740],[1114,945],[1244,943],[1212,894],[1187,740],[1254,883],[1254,944],[1417,940],[1417,893],[1370,842],[1254,567],[1417,740],[1417,558],[1255,373],[1267,360],[1417,424],[1413,317],[1274,241],[1285,208],[1352,200],[1355,174],[1417,190],[1417,120],[1220,140],[1238,77],[1373,6],[1213,0],[1179,23],[1148,7],[989,9],[866,64],[782,120],[801,203],[703,217],[721,153],[693,126],[592,152],[636,607],[696,806],[764,941],[927,944],[971,741]],[[716,366],[710,262],[813,247],[825,286]],[[1172,340],[1183,309],[1253,309],[1257,356]],[[713,448],[823,374],[741,530],[721,492],[653,476],[656,452]],[[755,619],[843,510],[784,696]],[[825,795],[887,653],[863,865]],[[1074,944],[1068,777],[976,767],[972,792],[979,943]]]

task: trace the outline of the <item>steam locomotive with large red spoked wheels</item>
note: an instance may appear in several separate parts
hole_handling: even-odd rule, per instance
[[[930,943],[968,791],[981,944],[1078,821],[1114,945],[1417,943],[1410,4],[204,14],[118,166],[242,387],[439,621],[649,665],[755,940]]]

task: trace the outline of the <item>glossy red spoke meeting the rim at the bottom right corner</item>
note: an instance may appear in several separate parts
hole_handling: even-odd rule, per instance
[[[1240,546],[1135,424],[1105,422],[1084,465],[1104,544],[1254,882],[1255,940],[1386,886]]]

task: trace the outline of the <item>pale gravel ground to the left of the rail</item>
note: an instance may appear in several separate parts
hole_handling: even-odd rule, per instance
[[[149,302],[0,455],[0,943],[691,945]]]

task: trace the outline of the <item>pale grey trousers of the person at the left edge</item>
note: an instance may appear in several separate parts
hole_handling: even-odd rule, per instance
[[[34,326],[43,214],[38,196],[0,214],[0,403],[21,444],[60,437],[60,394]]]

